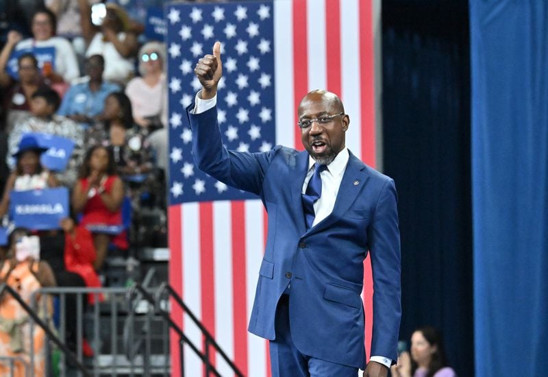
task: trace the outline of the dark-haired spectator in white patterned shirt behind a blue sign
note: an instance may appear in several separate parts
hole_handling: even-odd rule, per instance
[[[69,160],[66,170],[58,173],[57,178],[63,186],[72,187],[77,178],[77,169],[82,161],[84,145],[84,132],[82,126],[71,119],[55,115],[59,108],[60,97],[52,89],[40,89],[32,95],[31,111],[32,117],[21,123],[17,123],[13,132],[8,137],[8,166],[13,167],[10,158],[16,152],[17,145],[23,134],[29,132],[43,132],[55,136],[68,138],[75,143],[73,154]]]

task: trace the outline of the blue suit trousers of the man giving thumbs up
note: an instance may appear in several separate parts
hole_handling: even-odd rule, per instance
[[[358,368],[301,354],[293,344],[289,324],[289,296],[282,295],[276,309],[276,339],[270,341],[273,377],[356,377]],[[328,331],[329,329],[326,329]]]

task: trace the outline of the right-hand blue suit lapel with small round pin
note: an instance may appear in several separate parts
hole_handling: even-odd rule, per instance
[[[343,180],[340,182],[333,212],[316,224],[316,226],[310,228],[308,233],[319,232],[331,226],[339,217],[343,216],[356,200],[356,197],[358,197],[368,179],[369,175],[365,171],[364,163],[350,153],[347,168],[343,174]]]

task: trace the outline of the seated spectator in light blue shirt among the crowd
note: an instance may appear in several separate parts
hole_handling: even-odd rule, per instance
[[[101,55],[86,59],[84,69],[88,76],[66,92],[57,112],[59,115],[81,123],[85,128],[99,120],[106,97],[120,90],[120,86],[103,80],[104,66],[105,60]]]

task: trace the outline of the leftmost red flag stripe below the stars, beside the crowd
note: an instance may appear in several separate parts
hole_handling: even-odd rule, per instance
[[[168,209],[168,221],[169,221],[169,284],[171,287],[182,297],[183,296],[183,243],[181,238],[182,229],[182,217],[181,217],[181,205],[169,206]],[[179,230],[175,232],[175,230]],[[175,300],[170,299],[171,304],[171,318],[175,321],[175,324],[180,328],[183,328],[183,311],[175,303]],[[174,330],[170,330],[169,345],[171,350],[172,360],[180,360],[179,358],[179,336]],[[173,376],[181,376],[181,365],[179,363],[172,363],[171,373]]]

